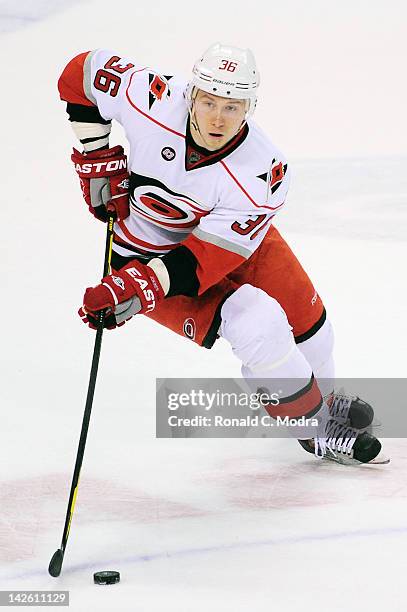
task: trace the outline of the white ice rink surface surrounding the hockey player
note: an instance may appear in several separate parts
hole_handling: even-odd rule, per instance
[[[259,21],[243,2],[196,15],[183,1],[69,4],[0,4],[3,32],[5,16],[35,21],[0,41],[0,588],[68,589],[79,612],[404,611],[405,441],[385,441],[389,466],[349,469],[289,440],[156,440],[155,377],[238,376],[239,364],[222,341],[199,349],[142,318],[104,336],[63,572],[48,576],[93,346],[75,311],[104,242],[56,94],[74,53],[138,51],[186,74],[212,40],[247,41],[258,120],[293,168],[277,223],[334,322],[338,374],[406,375],[405,6],[272,2]],[[121,583],[93,585],[103,569]]]

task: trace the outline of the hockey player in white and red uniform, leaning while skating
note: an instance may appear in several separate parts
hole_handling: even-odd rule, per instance
[[[273,226],[289,168],[251,119],[258,86],[251,51],[219,43],[189,83],[105,49],[68,63],[58,87],[83,147],[72,161],[90,212],[105,221],[109,204],[116,215],[112,272],[86,290],[79,314],[95,327],[107,308],[110,329],[144,314],[206,348],[223,337],[249,382],[287,381],[271,416],[318,418],[312,439],[294,432],[305,450],[373,462],[380,442],[362,431],[371,408],[323,388],[334,377],[332,326]],[[112,120],[128,163],[109,148]]]

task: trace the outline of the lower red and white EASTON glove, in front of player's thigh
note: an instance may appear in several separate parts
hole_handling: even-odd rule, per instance
[[[107,308],[105,327],[113,329],[135,314],[151,312],[163,298],[155,272],[136,261],[105,276],[100,285],[88,287],[78,314],[89,327],[96,328],[98,313]]]

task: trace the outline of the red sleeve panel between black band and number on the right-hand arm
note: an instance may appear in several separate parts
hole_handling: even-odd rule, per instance
[[[198,261],[196,275],[199,280],[198,295],[219,283],[226,274],[240,266],[245,260],[242,255],[226,251],[216,244],[200,240],[194,234],[190,234],[182,243],[196,257]]]

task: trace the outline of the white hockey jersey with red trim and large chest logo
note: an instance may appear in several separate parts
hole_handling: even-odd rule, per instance
[[[258,248],[289,172],[252,120],[220,151],[197,146],[186,85],[105,49],[74,58],[59,80],[62,99],[95,105],[129,142],[130,216],[115,224],[114,250],[150,258],[182,243],[198,260],[202,293]]]

